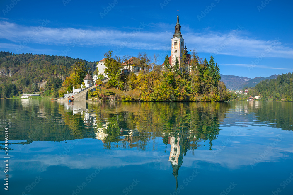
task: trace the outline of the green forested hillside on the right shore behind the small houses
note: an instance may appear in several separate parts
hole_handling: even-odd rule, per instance
[[[293,101],[293,75],[292,73],[278,75],[276,79],[260,81],[249,91],[248,95],[260,95],[262,101],[272,98],[273,101],[283,99]]]

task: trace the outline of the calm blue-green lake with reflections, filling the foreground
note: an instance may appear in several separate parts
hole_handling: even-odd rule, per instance
[[[292,102],[1,99],[0,108],[0,194],[293,191]]]

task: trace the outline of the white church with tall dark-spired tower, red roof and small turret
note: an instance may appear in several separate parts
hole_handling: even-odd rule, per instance
[[[173,35],[173,38],[171,38],[171,55],[169,57],[169,63],[171,65],[171,67],[173,68],[175,65],[175,59],[176,57],[178,57],[179,60],[179,65],[180,65],[180,71],[183,71],[183,67],[186,69],[186,71],[188,71],[189,69],[189,64],[190,64],[190,54],[187,53],[187,48],[186,48],[186,44],[185,44],[185,48],[184,47],[184,39],[182,37],[181,34],[181,25],[179,23],[179,14],[177,13],[177,23],[175,25],[175,33]],[[187,66],[181,66],[181,59],[182,59],[182,54],[185,54],[186,56],[186,60],[185,63]],[[164,63],[162,64],[162,66],[164,65]]]

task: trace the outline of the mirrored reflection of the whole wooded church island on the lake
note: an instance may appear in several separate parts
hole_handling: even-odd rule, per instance
[[[72,116],[83,116],[87,129],[93,128],[95,138],[104,143],[107,149],[136,147],[147,150],[155,137],[163,137],[163,142],[171,146],[169,162],[178,187],[178,171],[187,150],[195,150],[199,142],[217,138],[220,122],[225,117],[226,104],[116,104],[59,102]],[[179,108],[179,109],[178,109]],[[69,127],[75,128],[78,122],[63,114]],[[127,129],[134,127],[135,129]],[[191,148],[190,148],[191,146]],[[154,150],[154,149],[153,149]]]

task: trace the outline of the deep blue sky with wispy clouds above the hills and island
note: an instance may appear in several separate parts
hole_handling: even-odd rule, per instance
[[[0,48],[99,61],[171,55],[177,10],[188,51],[220,73],[254,78],[293,71],[293,1],[2,0]],[[108,10],[107,10],[108,9]]]

